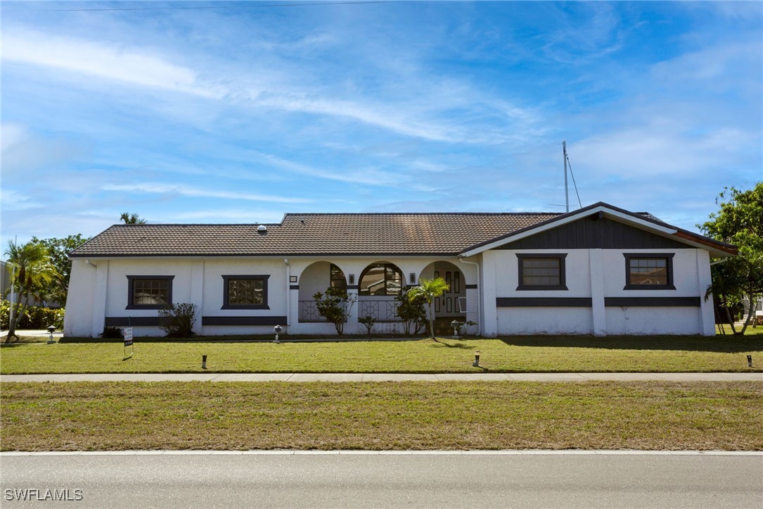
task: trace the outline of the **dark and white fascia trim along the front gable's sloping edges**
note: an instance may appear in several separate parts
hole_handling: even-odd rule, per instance
[[[526,232],[532,232],[535,229],[543,228],[547,225],[551,225],[555,222],[563,221],[564,219],[568,219],[570,217],[581,216],[581,219],[582,219],[586,216],[586,212],[590,212],[599,207],[604,209],[610,209],[613,212],[618,212],[626,216],[631,216],[633,217],[633,219],[639,219],[639,221],[651,222],[655,226],[659,226],[661,228],[676,230],[676,232],[671,236],[674,238],[678,237],[679,242],[681,242],[681,240],[697,242],[697,244],[707,246],[708,248],[712,248],[715,251],[721,251],[731,256],[736,256],[736,254],[738,254],[736,245],[731,245],[731,244],[726,244],[726,242],[716,241],[713,238],[705,237],[703,235],[699,235],[697,233],[689,232],[688,230],[678,228],[678,226],[669,225],[667,222],[662,222],[662,221],[658,221],[657,219],[652,219],[652,217],[645,216],[644,214],[639,214],[638,212],[630,212],[629,210],[626,210],[626,209],[620,209],[620,207],[610,205],[609,203],[597,202],[597,203],[594,203],[593,205],[583,207],[582,209],[578,209],[573,212],[567,212],[565,214],[562,214],[561,216],[557,216],[552,219],[547,219],[546,221],[541,221],[534,225],[526,226],[525,228],[514,230],[513,232],[509,232],[504,235],[499,235],[487,241],[479,242],[478,244],[465,248],[463,251],[461,251],[461,253],[459,254],[459,257],[473,256],[474,254],[478,254],[478,253],[469,254],[469,255],[466,255],[465,253],[468,253],[469,251],[474,251],[475,249],[479,249],[486,245],[493,244],[494,242],[501,242],[504,239],[507,240],[507,242],[504,242],[504,244],[508,244],[510,242],[509,239],[512,237],[515,237],[517,235],[520,235]]]

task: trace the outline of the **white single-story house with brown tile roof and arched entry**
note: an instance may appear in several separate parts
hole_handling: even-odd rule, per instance
[[[194,303],[201,335],[335,334],[313,294],[358,296],[346,332],[401,330],[394,296],[443,277],[436,316],[484,336],[715,334],[710,256],[732,245],[606,203],[555,213],[287,214],[269,225],[114,225],[76,248],[67,336],[161,335]]]

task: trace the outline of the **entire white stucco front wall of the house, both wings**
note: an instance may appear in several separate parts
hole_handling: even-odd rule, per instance
[[[626,280],[623,253],[674,253],[673,282],[675,290],[624,290]],[[565,284],[568,290],[517,290],[517,253],[566,253]],[[195,303],[199,319],[195,331],[199,335],[266,334],[272,325],[262,326],[202,326],[202,316],[248,316],[274,319],[286,317],[279,325],[286,333],[333,335],[330,323],[300,323],[299,300],[329,285],[329,264],[336,264],[346,276],[354,274],[355,285],[369,264],[388,262],[401,269],[404,281],[410,284],[409,274],[423,272],[435,261],[449,261],[463,274],[462,284],[478,285],[466,289],[467,319],[478,323],[481,333],[488,337],[510,334],[705,334],[715,333],[712,301],[703,300],[710,284],[710,258],[702,249],[664,250],[490,250],[470,258],[480,264],[478,269],[457,258],[371,258],[328,257],[289,258],[113,258],[93,259],[92,264],[80,259],[72,262],[72,281],[66,303],[66,336],[98,336],[105,317],[156,317],[156,310],[127,310],[127,276],[174,276],[172,302]],[[313,265],[316,264],[316,265]],[[312,266],[312,267],[311,267]],[[268,306],[265,310],[223,310],[223,275],[269,275]],[[288,275],[297,277],[290,283]],[[350,293],[356,293],[351,285]],[[481,299],[479,298],[481,296]],[[498,307],[497,298],[585,298],[588,307]],[[700,306],[641,307],[604,306],[608,297],[699,297]],[[360,297],[361,299],[363,297]],[[375,297],[378,298],[378,297]],[[389,297],[390,299],[392,297]],[[480,300],[483,319],[480,319]],[[346,324],[346,333],[362,333],[365,327],[357,322],[356,303]],[[158,327],[137,326],[136,336],[162,336]],[[375,332],[401,331],[400,323],[376,323]]]

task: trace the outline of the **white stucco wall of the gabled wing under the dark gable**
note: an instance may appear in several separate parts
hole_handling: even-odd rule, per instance
[[[624,253],[674,254],[675,290],[625,290]],[[517,254],[566,253],[568,290],[517,290]],[[533,249],[483,253],[485,335],[523,334],[715,334],[710,258],[702,249]],[[494,287],[491,284],[494,282]],[[498,307],[496,298],[589,298],[591,307]],[[692,297],[700,306],[605,306],[608,297]],[[493,320],[495,320],[493,325]]]

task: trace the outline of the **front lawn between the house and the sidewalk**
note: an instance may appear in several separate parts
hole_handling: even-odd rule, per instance
[[[472,367],[475,350],[482,368]],[[0,373],[763,371],[761,336],[515,336],[405,342],[18,343],[0,348]]]

